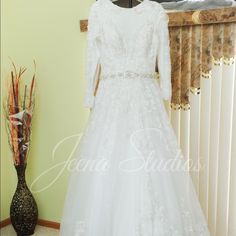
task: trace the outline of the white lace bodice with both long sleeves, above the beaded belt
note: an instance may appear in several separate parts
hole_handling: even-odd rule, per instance
[[[84,106],[93,107],[99,75],[135,72],[160,74],[162,98],[171,98],[168,16],[150,0],[122,8],[98,0],[90,8],[87,35]],[[98,73],[99,72],[99,73]]]

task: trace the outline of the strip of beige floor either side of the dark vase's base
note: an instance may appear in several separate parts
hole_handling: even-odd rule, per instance
[[[13,229],[12,225],[8,225],[8,226],[3,227],[0,230],[0,235],[1,236],[16,236],[16,232]],[[36,225],[35,233],[33,235],[35,236],[59,236],[59,230]]]

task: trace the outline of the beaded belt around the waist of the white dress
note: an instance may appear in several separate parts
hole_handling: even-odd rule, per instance
[[[124,71],[124,72],[117,72],[117,73],[108,73],[108,74],[101,74],[100,79],[155,79],[157,78],[157,74],[154,73],[138,73],[132,71]]]

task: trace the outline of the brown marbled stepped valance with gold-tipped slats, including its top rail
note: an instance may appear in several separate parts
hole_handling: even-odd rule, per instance
[[[221,16],[235,17],[236,8],[194,11],[185,18],[169,13],[169,33],[172,62],[171,108],[190,109],[190,92],[201,90],[201,78],[212,78],[213,65],[235,63],[236,22],[222,22]],[[221,13],[219,11],[222,11]],[[234,13],[234,14],[233,14]],[[192,22],[191,22],[192,21]]]

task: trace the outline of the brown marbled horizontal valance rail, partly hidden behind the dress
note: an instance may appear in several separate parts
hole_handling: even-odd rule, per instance
[[[169,26],[201,25],[236,22],[236,7],[223,7],[197,11],[167,12]],[[80,20],[80,31],[87,31],[88,20]]]

